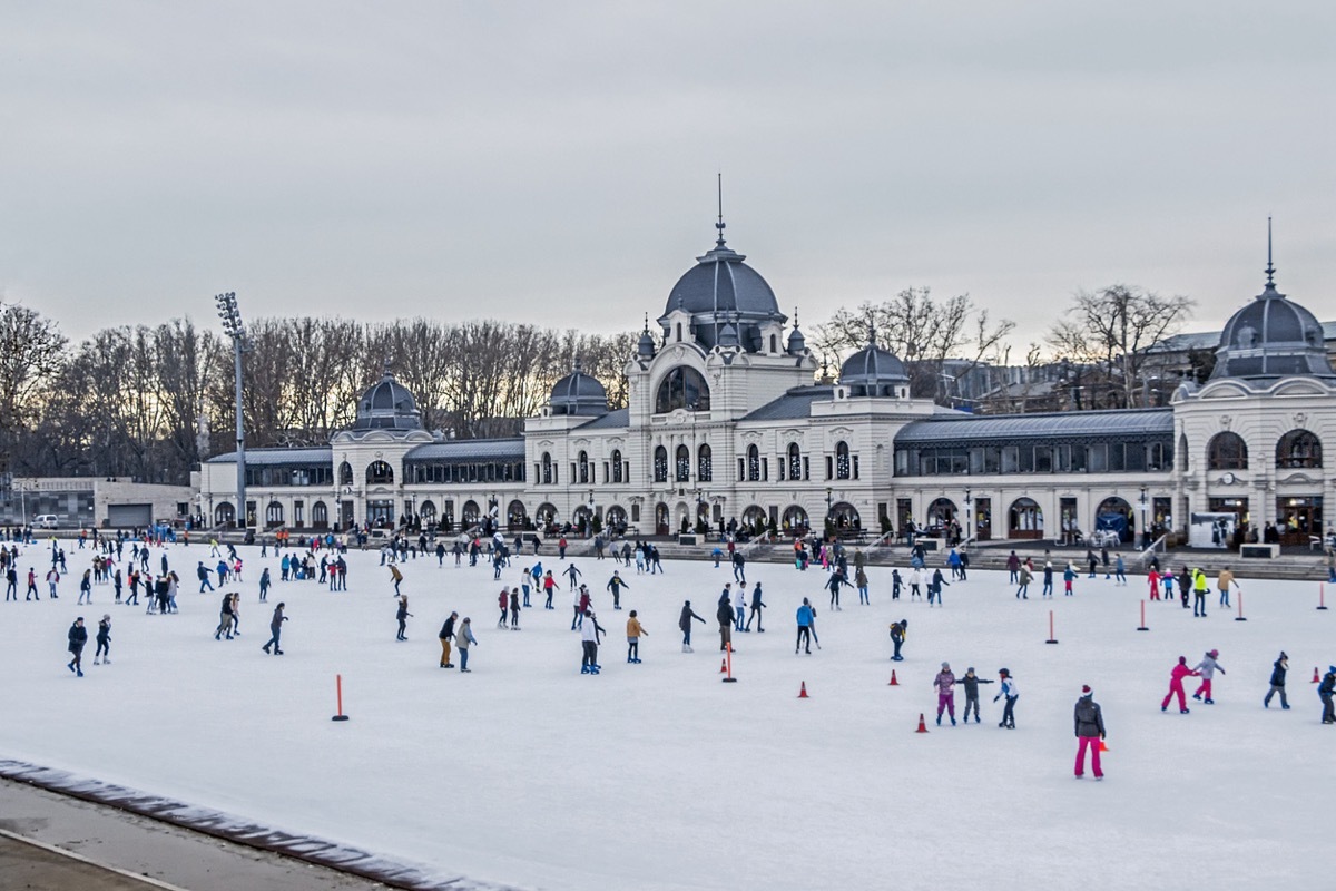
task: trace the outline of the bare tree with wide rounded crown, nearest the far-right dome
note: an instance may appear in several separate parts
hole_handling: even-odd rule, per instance
[[[1078,291],[1066,318],[1049,331],[1049,343],[1061,358],[1098,369],[1090,386],[1102,383],[1105,393],[1096,391],[1096,405],[1133,407],[1144,402],[1146,347],[1177,333],[1194,305],[1188,297],[1161,297],[1128,285]]]

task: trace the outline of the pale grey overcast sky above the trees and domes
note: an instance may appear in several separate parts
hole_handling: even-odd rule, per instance
[[[637,329],[713,240],[804,327],[1078,289],[1336,318],[1336,5],[0,5],[0,297]]]

